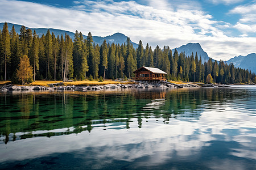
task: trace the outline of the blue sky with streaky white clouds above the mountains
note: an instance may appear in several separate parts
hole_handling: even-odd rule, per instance
[[[121,32],[153,49],[199,42],[224,61],[256,53],[256,0],[0,0],[0,22],[93,36]]]

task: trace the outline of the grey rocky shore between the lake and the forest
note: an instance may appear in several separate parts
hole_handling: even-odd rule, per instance
[[[179,84],[182,87],[200,87],[196,84]],[[15,86],[13,84],[5,85],[0,88],[0,91],[98,91],[104,89],[118,89],[118,88],[177,88],[172,84],[164,83],[137,83],[137,84],[107,84],[104,86],[55,86],[55,84],[48,84],[49,87],[45,86]]]

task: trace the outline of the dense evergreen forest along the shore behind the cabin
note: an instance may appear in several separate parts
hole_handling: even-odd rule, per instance
[[[0,80],[20,82],[18,75],[23,68],[30,72],[28,82],[46,80],[84,80],[102,78],[132,78],[133,71],[141,66],[158,67],[171,80],[216,83],[256,83],[255,73],[227,65],[224,61],[202,61],[200,56],[186,56],[185,52],[172,53],[169,46],[152,49],[139,41],[135,49],[127,38],[124,44],[94,44],[89,32],[86,39],[76,31],[69,35],[55,36],[49,30],[39,37],[36,32],[22,26],[20,33],[13,27],[8,31],[5,23],[0,30]],[[28,58],[28,59],[26,59]],[[29,63],[26,64],[26,61]],[[22,65],[23,64],[23,65]],[[26,68],[26,65],[30,65]],[[25,67],[24,67],[25,66]],[[27,66],[28,67],[28,66]]]

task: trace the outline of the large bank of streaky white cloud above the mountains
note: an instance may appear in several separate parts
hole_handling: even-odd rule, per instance
[[[170,5],[167,1],[162,3]],[[253,44],[256,43],[256,38],[226,36],[222,29],[229,27],[229,23],[213,20],[211,15],[199,9],[163,9],[161,6],[140,5],[135,1],[85,0],[75,4],[72,8],[58,8],[2,0],[0,22],[72,32],[77,29],[85,35],[90,31],[94,36],[122,32],[134,42],[142,40],[144,45],[148,42],[152,48],[156,45],[176,48],[188,42],[200,42],[205,52],[214,59],[225,60],[237,54],[246,56],[255,52]],[[238,27],[239,25],[237,29]]]

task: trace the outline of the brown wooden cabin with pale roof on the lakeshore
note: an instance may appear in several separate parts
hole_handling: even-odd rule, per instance
[[[135,73],[134,80],[145,80],[148,82],[160,81],[160,80],[166,81],[166,75],[167,75],[166,72],[158,68],[144,67],[144,66],[134,71],[133,73]]]

